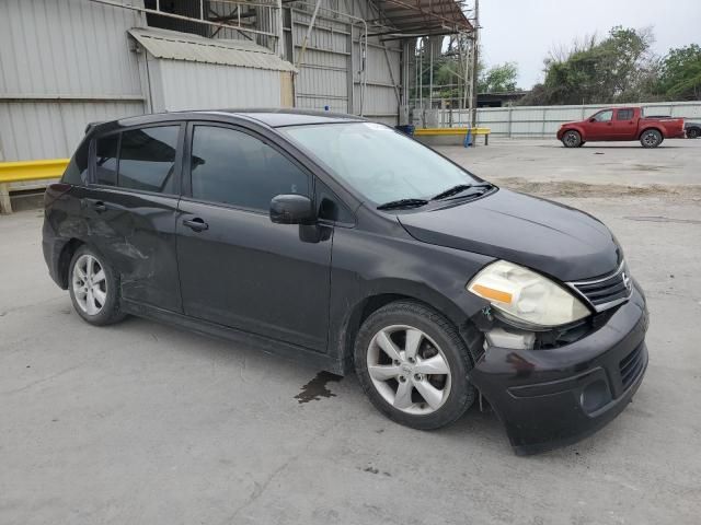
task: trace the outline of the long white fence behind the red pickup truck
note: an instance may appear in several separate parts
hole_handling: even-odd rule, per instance
[[[512,106],[481,107],[478,109],[478,126],[492,130],[495,137],[542,138],[553,137],[563,122],[584,120],[599,109],[611,107],[604,105],[581,106]],[[619,105],[617,105],[618,107]],[[621,104],[620,106],[642,106],[646,116],[669,115],[686,119],[701,120],[701,101],[664,102],[648,104]],[[443,128],[467,126],[470,117],[467,109],[440,109],[438,122]]]

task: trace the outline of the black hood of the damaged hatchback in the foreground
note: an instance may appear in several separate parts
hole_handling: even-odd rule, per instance
[[[623,257],[616,237],[599,220],[507,189],[398,219],[418,241],[509,260],[562,281],[611,273]]]

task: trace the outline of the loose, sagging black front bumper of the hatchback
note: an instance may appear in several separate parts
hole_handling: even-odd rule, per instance
[[[630,300],[591,334],[561,348],[490,347],[470,374],[519,455],[574,443],[618,416],[647,368],[645,299]]]

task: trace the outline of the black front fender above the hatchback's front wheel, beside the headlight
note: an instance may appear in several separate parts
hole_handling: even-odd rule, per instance
[[[348,229],[334,232],[329,353],[343,370],[363,312],[374,298],[415,299],[461,328],[484,302],[466,284],[493,257],[432,245],[409,236],[382,236]],[[401,277],[398,277],[401,276]]]

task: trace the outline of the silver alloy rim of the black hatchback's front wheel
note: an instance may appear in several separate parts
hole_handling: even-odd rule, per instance
[[[443,350],[418,328],[393,325],[370,340],[368,374],[382,398],[403,412],[426,416],[450,394],[450,366]]]

